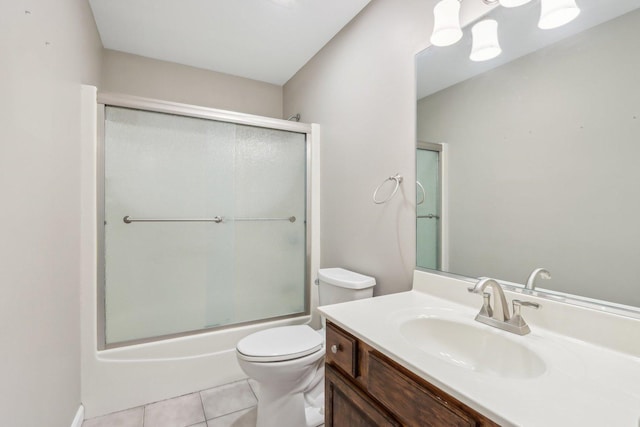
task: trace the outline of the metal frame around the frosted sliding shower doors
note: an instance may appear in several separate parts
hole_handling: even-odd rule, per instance
[[[319,219],[316,220],[318,224],[312,223],[312,208],[314,204],[318,203],[319,195],[315,195],[312,192],[312,187],[318,188],[317,183],[314,185],[313,170],[312,170],[312,151],[315,144],[313,144],[313,132],[318,133],[319,126],[315,124],[307,124],[300,122],[292,122],[281,119],[273,119],[263,116],[255,116],[252,114],[237,113],[234,111],[218,110],[214,108],[200,107],[189,104],[181,104],[169,101],[161,101],[151,98],[143,98],[131,95],[122,95],[115,93],[101,93],[97,95],[98,103],[98,118],[97,118],[97,158],[96,158],[96,172],[97,172],[97,349],[106,350],[117,347],[124,347],[135,344],[142,344],[146,342],[154,342],[165,339],[177,338],[188,335],[195,335],[209,331],[218,331],[228,328],[234,328],[242,325],[251,325],[264,321],[274,321],[280,319],[297,318],[302,316],[310,316],[311,313],[311,268],[313,263],[313,257],[311,256],[312,250],[319,250],[317,234],[319,232]],[[105,311],[105,248],[104,248],[104,233],[105,233],[105,218],[104,218],[104,160],[105,160],[105,108],[106,107],[123,107],[131,108],[134,110],[149,111],[155,113],[165,113],[176,116],[194,117],[208,120],[215,120],[226,123],[233,123],[239,125],[253,126],[265,129],[282,130],[288,132],[295,132],[305,134],[306,144],[306,193],[305,193],[305,278],[304,278],[304,312],[296,314],[288,314],[277,317],[270,317],[268,319],[258,319],[248,322],[232,323],[229,325],[218,326],[213,328],[202,328],[192,331],[185,331],[173,334],[160,335],[149,338],[141,338],[130,341],[117,342],[112,344],[106,343],[106,311]],[[318,151],[316,149],[317,154]],[[317,191],[317,190],[316,190]],[[314,237],[314,241],[312,241]],[[315,243],[314,243],[315,242]],[[317,266],[316,266],[317,267]]]

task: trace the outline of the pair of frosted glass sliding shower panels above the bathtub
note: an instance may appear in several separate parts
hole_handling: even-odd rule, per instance
[[[106,344],[306,310],[305,134],[106,107]]]

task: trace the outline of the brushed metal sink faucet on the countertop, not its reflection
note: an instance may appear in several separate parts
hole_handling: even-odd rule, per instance
[[[493,306],[491,306],[490,294],[485,292],[487,286],[491,287],[494,299],[496,300]],[[510,316],[507,297],[504,295],[502,286],[500,286],[500,284],[494,279],[488,277],[480,279],[474,287],[468,288],[468,291],[475,294],[482,294],[482,308],[475,319],[478,322],[518,335],[525,335],[531,332],[529,325],[527,325],[520,315],[520,309],[522,307],[539,308],[539,304],[535,302],[513,300],[513,316]]]

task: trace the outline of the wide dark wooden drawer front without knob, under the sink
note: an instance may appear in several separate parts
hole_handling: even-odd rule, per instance
[[[369,353],[367,391],[406,426],[476,426],[471,414],[449,402],[392,365],[386,357]],[[451,399],[452,401],[454,399]]]

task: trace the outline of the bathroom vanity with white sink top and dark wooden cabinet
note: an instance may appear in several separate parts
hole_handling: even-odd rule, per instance
[[[475,321],[473,283],[319,307],[327,426],[629,426],[640,422],[640,319],[535,295],[517,335]]]

